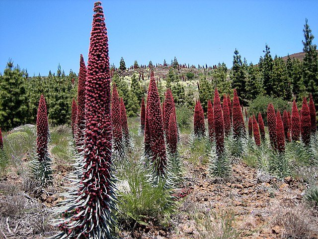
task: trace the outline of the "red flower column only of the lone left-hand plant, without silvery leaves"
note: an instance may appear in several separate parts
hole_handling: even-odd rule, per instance
[[[45,154],[48,149],[48,115],[46,109],[46,103],[44,96],[41,95],[38,114],[36,118],[36,128],[37,128],[37,138],[36,138],[36,152],[39,157],[39,161],[43,162],[45,160]]]

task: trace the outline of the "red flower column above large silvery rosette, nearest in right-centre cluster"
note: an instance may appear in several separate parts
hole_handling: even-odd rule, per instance
[[[216,141],[216,151],[220,155],[224,151],[224,121],[223,112],[221,108],[221,100],[219,97],[218,89],[215,88],[214,91],[214,101],[213,101],[213,113],[214,113],[214,131],[215,131],[215,141]]]

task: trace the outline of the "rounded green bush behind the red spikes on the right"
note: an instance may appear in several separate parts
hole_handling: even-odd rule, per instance
[[[248,115],[253,114],[257,118],[258,112],[262,115],[264,124],[267,125],[267,107],[272,103],[275,111],[279,110],[281,114],[284,110],[291,111],[291,103],[284,101],[282,98],[273,98],[269,96],[258,96],[253,101],[249,102]]]

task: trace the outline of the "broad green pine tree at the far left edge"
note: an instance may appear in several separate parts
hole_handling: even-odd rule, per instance
[[[18,66],[13,68],[13,62],[9,60],[3,75],[0,76],[0,125],[3,130],[26,123],[26,79],[26,71],[21,71]]]

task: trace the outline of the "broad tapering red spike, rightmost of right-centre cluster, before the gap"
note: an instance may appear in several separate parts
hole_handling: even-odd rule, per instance
[[[239,97],[237,90],[233,91],[233,111],[232,111],[232,121],[233,121],[233,133],[235,137],[240,137],[246,134],[245,124],[243,119],[243,114],[239,105]]]

